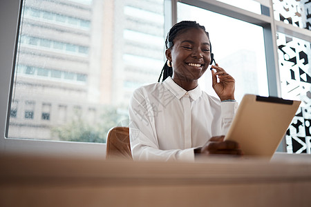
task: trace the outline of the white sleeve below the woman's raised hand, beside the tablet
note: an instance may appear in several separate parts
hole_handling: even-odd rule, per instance
[[[227,101],[221,102],[221,131],[223,135],[226,135],[232,121],[234,119],[234,115],[236,114],[236,110],[238,108],[237,102]]]

